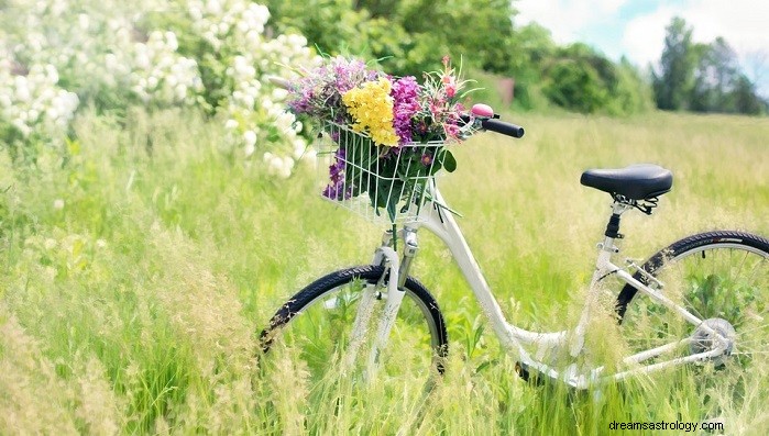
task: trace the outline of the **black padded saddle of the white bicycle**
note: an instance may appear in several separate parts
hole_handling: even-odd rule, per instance
[[[670,191],[673,174],[659,165],[636,164],[619,169],[589,169],[580,183],[628,200],[646,200]]]

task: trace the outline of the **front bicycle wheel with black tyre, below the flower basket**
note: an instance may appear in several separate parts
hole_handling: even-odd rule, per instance
[[[409,277],[400,289],[405,295],[387,346],[377,349],[374,343],[387,299],[387,278],[386,268],[363,266],[310,283],[262,332],[262,350],[270,353],[265,358],[301,365],[314,389],[340,374],[354,381],[395,381],[388,387],[424,385],[443,371],[448,353],[443,316],[427,289]]]

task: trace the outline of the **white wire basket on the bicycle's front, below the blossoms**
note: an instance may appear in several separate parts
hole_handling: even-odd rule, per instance
[[[377,146],[333,123],[325,124],[319,144],[321,197],[374,223],[421,221],[447,156],[443,142]]]

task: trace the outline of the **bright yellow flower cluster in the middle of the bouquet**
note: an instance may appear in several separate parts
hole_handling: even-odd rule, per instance
[[[344,92],[342,102],[354,121],[353,131],[367,133],[375,144],[396,146],[398,135],[393,126],[391,88],[389,80],[382,77]]]

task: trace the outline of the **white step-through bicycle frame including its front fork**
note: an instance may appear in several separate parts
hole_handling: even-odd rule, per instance
[[[375,349],[374,353],[371,354],[372,357],[369,362],[370,368],[373,368],[375,365],[378,350],[386,346],[389,329],[395,321],[404,295],[404,292],[402,292],[398,287],[404,284],[406,277],[408,276],[408,269],[411,260],[418,250],[417,232],[422,227],[438,236],[438,238],[440,238],[449,248],[454,261],[470,284],[475,299],[481,304],[481,308],[492,325],[495,335],[499,338],[502,346],[506,349],[506,351],[517,354],[520,362],[529,368],[553,379],[564,381],[574,388],[585,389],[596,381],[620,380],[637,373],[649,373],[677,365],[706,360],[723,354],[727,349],[728,339],[711,328],[708,325],[703,324],[703,320],[700,320],[658,290],[655,290],[649,286],[644,284],[639,280],[636,280],[627,270],[614,265],[611,261],[612,256],[617,254],[619,250],[614,245],[614,238],[608,236],[605,237],[602,244],[598,244],[598,256],[595,264],[595,271],[591,280],[587,298],[585,300],[579,323],[574,328],[561,332],[539,333],[529,332],[508,323],[499,304],[494,298],[488,283],[481,272],[481,269],[475,261],[475,258],[473,257],[472,251],[468,246],[461,230],[459,228],[459,225],[452,216],[452,213],[450,213],[448,208],[446,208],[443,204],[446,203],[443,202],[440,191],[438,191],[438,189],[433,186],[431,189],[431,200],[426,202],[419,211],[419,219],[417,221],[406,223],[403,226],[403,230],[399,232],[399,235],[393,235],[391,231],[385,232],[382,246],[377,248],[374,255],[374,265],[385,265],[389,268],[389,281],[387,283],[387,302],[385,304],[383,318],[378,326],[377,340],[374,345]],[[613,211],[617,215],[620,215],[629,209],[631,209],[630,205],[619,202],[615,202],[613,205]],[[393,249],[393,239],[395,237],[403,238],[405,243],[403,257],[399,257]],[[647,294],[649,298],[664,305],[666,308],[675,311],[690,324],[703,329],[712,335],[712,337],[715,337],[717,345],[707,351],[672,358],[669,360],[655,362],[652,365],[639,365],[646,360],[662,356],[673,351],[678,347],[689,344],[691,338],[672,342],[663,346],[626,357],[623,359],[623,364],[627,365],[629,368],[609,376],[602,376],[605,370],[604,367],[580,371],[575,364],[570,365],[565,370],[558,371],[556,368],[552,368],[546,362],[535,358],[526,348],[527,346],[535,346],[537,348],[536,356],[545,356],[549,350],[553,349],[568,349],[572,358],[578,357],[582,353],[586,328],[591,321],[592,308],[595,306],[600,297],[597,283],[603,278],[611,275],[615,275],[625,283],[629,283],[636,288],[639,292]],[[384,277],[382,281],[384,281]],[[364,301],[366,299],[369,301],[373,301],[373,289],[367,289],[366,293],[367,294],[363,297]],[[362,303],[361,309],[359,310],[355,325],[353,327],[356,332],[364,328],[365,324],[367,323],[367,313],[370,311],[366,306],[367,304]]]

